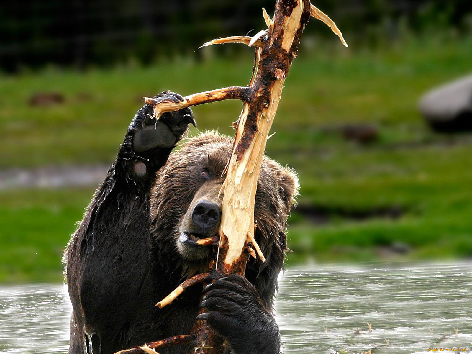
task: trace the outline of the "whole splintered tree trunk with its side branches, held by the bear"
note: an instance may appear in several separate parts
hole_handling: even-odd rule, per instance
[[[203,239],[197,243],[209,246],[218,243],[218,256],[211,261],[209,272],[186,280],[169,296],[157,303],[159,307],[170,304],[186,287],[198,282],[210,282],[221,275],[244,275],[249,255],[259,256],[265,261],[263,250],[257,244],[254,230],[254,202],[257,180],[261,171],[266,141],[270,127],[277,112],[285,80],[292,61],[296,58],[298,45],[305,25],[310,17],[315,17],[328,25],[345,46],[343,35],[336,24],[309,0],[277,0],[274,17],[271,19],[262,9],[267,29],[251,36],[232,36],[206,42],[203,46],[224,43],[243,43],[255,48],[253,75],[247,87],[226,87],[213,91],[194,93],[180,102],[161,101],[145,98],[153,107],[153,118],[159,119],[164,112],[180,110],[202,103],[237,99],[243,101],[243,110],[235,126],[232,152],[225,170],[221,224],[218,239]],[[251,244],[251,245],[250,245]],[[204,312],[200,310],[200,313]],[[185,337],[185,336],[181,336]],[[177,337],[163,340],[165,343],[176,341]],[[216,335],[206,321],[196,321],[192,334],[185,337],[187,343],[194,345],[194,354],[223,353],[223,339]],[[178,338],[182,343],[184,339]],[[156,342],[157,343],[157,342]],[[133,348],[151,353],[158,346]],[[123,351],[123,353],[130,353]],[[133,352],[135,353],[135,352]],[[154,353],[154,352],[152,352]]]

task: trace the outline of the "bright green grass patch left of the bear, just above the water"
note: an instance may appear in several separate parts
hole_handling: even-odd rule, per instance
[[[0,194],[0,283],[60,282],[61,258],[93,188]]]

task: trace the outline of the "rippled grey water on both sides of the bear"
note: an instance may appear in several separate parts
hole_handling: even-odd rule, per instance
[[[65,353],[70,312],[65,286],[0,287],[0,353]],[[472,353],[472,264],[290,269],[276,312],[285,353]]]

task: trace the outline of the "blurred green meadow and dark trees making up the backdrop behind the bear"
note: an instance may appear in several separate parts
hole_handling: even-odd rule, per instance
[[[252,49],[194,50],[258,32],[261,7],[273,9],[272,1],[238,1],[237,11],[228,11],[234,1],[175,1],[160,12],[140,1],[136,12],[123,1],[120,14],[131,15],[118,21],[107,1],[95,3],[100,11],[78,3],[76,15],[54,1],[27,2],[36,11],[23,18],[17,4],[0,8],[0,283],[62,280],[63,249],[142,97],[246,85]],[[435,133],[417,108],[425,91],[472,71],[472,6],[316,5],[350,47],[310,22],[272,127],[267,154],[301,183],[287,263],[472,257],[472,135]],[[141,17],[151,24],[136,25]],[[191,134],[232,135],[240,109],[238,101],[195,107]]]

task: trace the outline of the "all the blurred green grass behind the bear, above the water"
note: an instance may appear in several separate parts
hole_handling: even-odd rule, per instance
[[[407,257],[472,256],[472,136],[436,135],[417,111],[430,87],[471,70],[472,38],[430,38],[377,50],[303,48],[286,82],[267,153],[300,175],[303,204],[352,211],[404,210],[396,220],[362,222],[331,215],[314,226],[291,218],[289,262],[381,259],[401,242]],[[320,48],[327,48],[321,52]],[[152,67],[45,69],[0,77],[0,168],[110,163],[140,98],[165,89],[182,94],[245,85],[252,57],[174,59]],[[30,107],[37,92],[66,103]],[[86,93],[89,100],[78,97]],[[199,129],[232,134],[240,103],[194,108]],[[344,141],[332,127],[369,123],[377,142]],[[192,131],[192,134],[195,130]],[[93,188],[0,193],[0,282],[60,280],[60,256]]]

